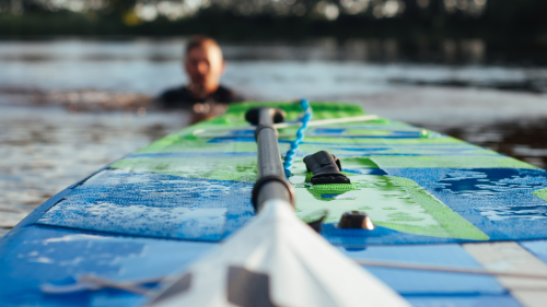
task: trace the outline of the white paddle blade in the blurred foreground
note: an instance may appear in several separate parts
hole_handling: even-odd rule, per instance
[[[289,203],[271,200],[150,306],[410,305],[300,221]]]

